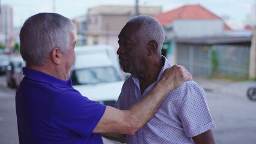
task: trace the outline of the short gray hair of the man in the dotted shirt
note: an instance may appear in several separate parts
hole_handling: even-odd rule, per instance
[[[139,34],[145,43],[155,40],[158,44],[157,52],[161,54],[163,42],[165,41],[165,31],[163,26],[157,19],[147,15],[140,15],[132,17],[127,23],[139,23]]]

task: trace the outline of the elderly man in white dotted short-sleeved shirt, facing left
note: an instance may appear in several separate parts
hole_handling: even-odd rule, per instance
[[[128,110],[150,93],[172,65],[161,55],[165,31],[153,17],[133,17],[118,38],[120,64],[131,76],[124,82],[115,107]],[[204,90],[194,81],[187,81],[168,92],[156,115],[135,134],[127,135],[126,142],[215,143],[213,127]]]

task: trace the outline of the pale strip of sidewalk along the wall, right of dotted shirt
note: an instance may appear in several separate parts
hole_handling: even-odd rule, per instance
[[[246,97],[247,89],[256,85],[256,81],[231,82],[230,80],[206,79],[204,77],[193,78],[204,91],[218,92],[221,94]]]

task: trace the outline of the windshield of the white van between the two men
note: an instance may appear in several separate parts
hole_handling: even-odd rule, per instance
[[[120,81],[121,77],[114,67],[96,67],[73,70],[71,79],[73,85],[88,85],[116,82]]]

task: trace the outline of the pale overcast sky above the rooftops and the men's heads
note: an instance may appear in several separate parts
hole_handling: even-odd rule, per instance
[[[21,26],[29,17],[41,12],[55,12],[70,19],[84,15],[87,8],[97,5],[135,5],[135,0],[0,0],[1,5],[13,7],[14,26]],[[218,16],[230,16],[243,22],[251,13],[256,0],[139,0],[141,6],[162,6],[163,11],[173,10],[186,4],[201,4]]]

